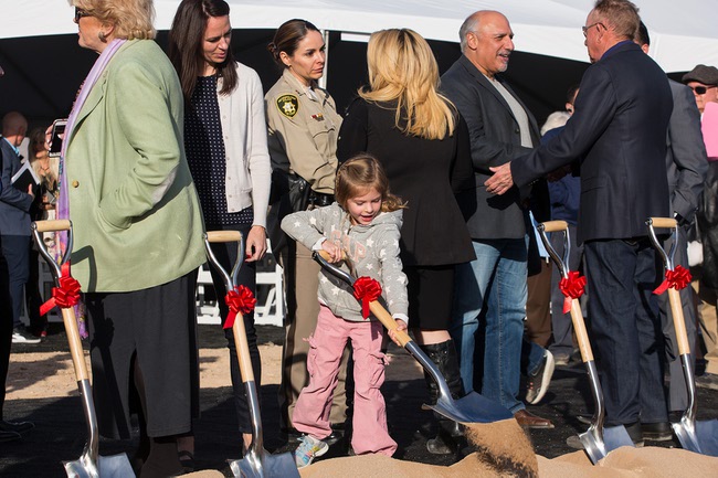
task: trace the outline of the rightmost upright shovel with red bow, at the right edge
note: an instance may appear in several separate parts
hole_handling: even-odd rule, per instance
[[[676,244],[678,244],[676,220],[672,217],[648,217],[646,225],[651,234],[651,242],[663,257],[666,272],[675,270],[673,259],[676,252]],[[671,230],[673,244],[667,254],[661,246],[654,227]],[[688,334],[686,333],[680,293],[675,287],[668,287],[668,302],[671,304],[671,314],[673,315],[673,327],[676,329],[676,342],[678,342],[683,374],[686,380],[686,387],[688,389],[688,407],[680,417],[680,422],[672,424],[673,431],[676,433],[680,446],[685,449],[703,455],[718,456],[718,421],[709,419],[696,423],[696,384],[694,382],[693,362],[690,361],[690,344],[688,342]]]

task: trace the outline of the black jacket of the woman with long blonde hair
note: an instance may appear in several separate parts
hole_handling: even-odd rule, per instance
[[[387,172],[391,192],[406,201],[401,226],[404,265],[473,261],[464,217],[473,213],[475,188],[466,124],[457,115],[452,136],[430,140],[404,135],[394,126],[394,111],[395,103],[377,105],[359,98],[349,105],[339,130],[339,162],[357,152],[374,155]],[[469,199],[463,201],[466,192]]]

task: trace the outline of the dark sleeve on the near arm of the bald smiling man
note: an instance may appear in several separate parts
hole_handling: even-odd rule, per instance
[[[486,135],[485,121],[490,121],[490,118],[476,91],[463,84],[458,85],[458,82],[443,83],[442,91],[456,105],[458,113],[468,125],[474,170],[492,174],[489,167],[504,164],[531,150]]]

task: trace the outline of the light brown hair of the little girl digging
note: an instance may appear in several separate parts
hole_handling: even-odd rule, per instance
[[[406,204],[389,191],[389,179],[377,158],[368,152],[360,152],[344,162],[337,170],[334,194],[339,205],[346,211],[351,198],[366,194],[374,188],[381,194],[381,211],[392,212],[405,209]]]

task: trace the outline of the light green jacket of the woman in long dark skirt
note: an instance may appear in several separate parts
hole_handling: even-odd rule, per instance
[[[72,275],[82,289],[141,290],[204,263],[182,92],[154,41],[128,41],[115,53],[75,125],[65,164]]]

